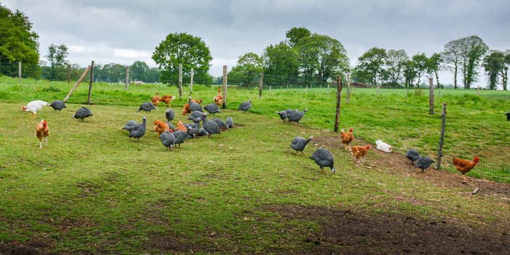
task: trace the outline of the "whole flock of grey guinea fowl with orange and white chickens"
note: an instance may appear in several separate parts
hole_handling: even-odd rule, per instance
[[[141,104],[137,112],[150,112],[151,110],[157,109],[160,101],[164,102],[165,106],[168,104],[168,107],[171,107],[170,101],[174,98],[175,96],[167,95],[159,97],[159,93],[157,93],[156,96],[151,97],[150,102],[147,101]],[[175,113],[171,108],[168,108],[165,111],[165,118],[167,121],[164,122],[161,120],[155,120],[154,130],[158,132],[158,137],[160,138],[161,143],[165,146],[166,149],[171,151],[175,145],[179,145],[179,148],[181,148],[181,144],[186,139],[191,139],[199,136],[207,136],[208,138],[211,138],[212,134],[221,134],[221,130],[234,127],[234,121],[232,117],[228,117],[225,121],[221,120],[220,118],[214,118],[212,120],[207,118],[208,113],[212,114],[213,116],[215,113],[221,113],[219,106],[222,104],[222,100],[223,97],[221,96],[220,90],[218,90],[218,95],[214,97],[214,103],[208,104],[207,106],[200,106],[202,99],[195,100],[189,96],[188,104],[183,106],[183,115],[188,114],[188,119],[192,120],[193,122],[182,123],[182,121],[179,121],[177,127],[170,123],[170,121],[174,119]],[[36,100],[30,102],[27,106],[23,106],[22,110],[32,112],[32,118],[36,118],[37,110],[42,109],[43,106],[51,106],[55,109],[55,111],[61,111],[62,109],[66,108],[64,102],[61,100],[55,100],[52,104],[48,104],[42,100]],[[244,113],[246,113],[250,108],[251,99],[240,104],[238,110],[242,110]],[[208,113],[203,112],[203,110],[206,110]],[[298,111],[297,109],[287,109],[284,111],[277,111],[276,113],[284,122],[288,120],[299,124],[299,120],[301,120],[307,111],[307,109],[304,109],[304,111]],[[89,116],[93,116],[91,110],[87,107],[82,107],[78,109],[72,117],[81,119],[81,121],[83,121]],[[124,125],[122,129],[129,131],[129,137],[133,137],[135,139],[134,141],[138,141],[140,137],[145,135],[146,119],[147,117],[144,116],[142,123],[138,123],[135,120],[130,120]],[[201,127],[200,122],[202,122]],[[45,120],[41,120],[41,122],[37,124],[35,135],[39,139],[39,147],[42,148],[42,139],[44,138],[45,143],[47,143],[47,136],[49,135],[49,127],[47,126],[47,122]],[[356,158],[356,163],[361,164],[361,158],[367,154],[367,151],[370,149],[370,145],[358,145],[349,147],[348,144],[354,139],[352,134],[352,127],[350,128],[349,132],[345,132],[342,129],[340,135],[345,149],[349,150],[352,156]],[[296,151],[296,155],[298,155],[298,152],[301,152],[303,155],[305,155],[303,150],[311,140],[313,140],[313,136],[310,136],[308,139],[298,136],[292,140],[290,146]],[[376,144],[377,149],[386,152],[392,151],[390,145],[380,140],[377,140]],[[410,159],[411,163],[415,165],[416,168],[421,168],[422,172],[424,172],[424,169],[430,167],[430,165],[434,163],[434,161],[430,158],[420,156],[419,152],[414,149],[408,150],[405,154],[405,157]],[[318,148],[316,151],[314,151],[312,156],[310,156],[310,159],[314,160],[315,163],[319,165],[320,170],[323,173],[325,173],[324,167],[329,167],[332,173],[336,173],[334,167],[334,157],[328,149]],[[453,158],[453,164],[455,165],[456,169],[462,173],[462,177],[465,179],[464,174],[471,170],[478,163],[478,160],[478,157],[475,157],[473,161]],[[416,161],[416,164],[414,161]]]

